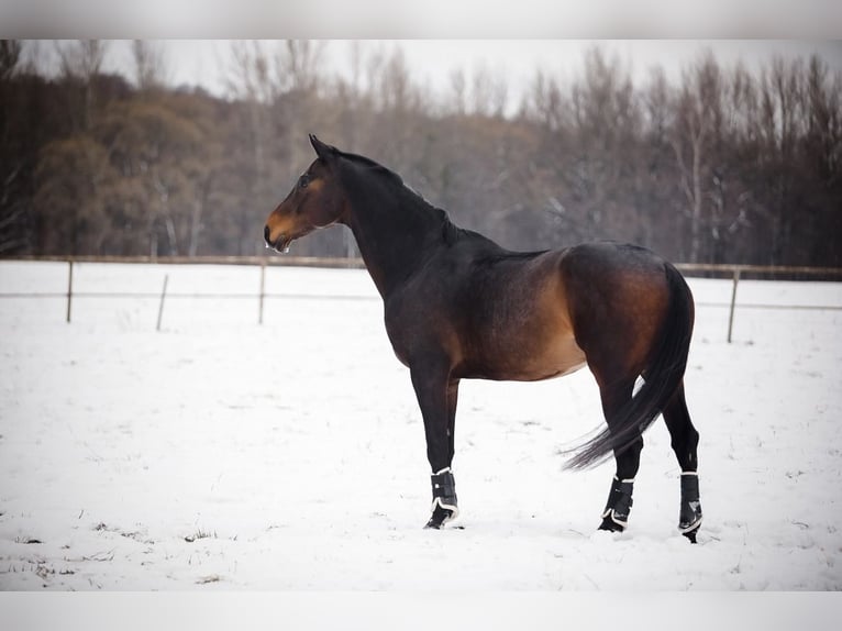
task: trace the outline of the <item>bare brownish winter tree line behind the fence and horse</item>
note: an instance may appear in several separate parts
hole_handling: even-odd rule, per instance
[[[131,76],[109,44],[56,43],[47,76],[0,43],[0,255],[254,255],[310,163],[307,134],[399,173],[507,247],[614,239],[674,261],[842,266],[842,79],[817,56],[757,69],[710,51],[645,81],[601,48],[563,81],[536,71],[517,111],[487,67],[433,96],[399,47],[231,44],[226,96],[168,86],[154,42]],[[295,253],[355,255],[345,229]]]

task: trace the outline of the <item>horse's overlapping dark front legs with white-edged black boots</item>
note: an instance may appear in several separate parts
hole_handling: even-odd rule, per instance
[[[453,477],[454,427],[458,380],[451,380],[443,363],[421,363],[410,367],[412,387],[424,420],[426,457],[432,469],[432,514],[425,528],[441,529],[456,519],[456,481]]]

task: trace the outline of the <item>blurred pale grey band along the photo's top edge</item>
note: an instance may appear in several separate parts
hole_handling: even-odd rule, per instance
[[[839,0],[0,0],[3,36],[30,37],[828,40],[840,24]]]

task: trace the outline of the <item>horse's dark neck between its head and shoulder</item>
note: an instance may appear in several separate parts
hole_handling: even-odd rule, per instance
[[[444,215],[396,182],[354,184],[359,182],[346,187],[350,212],[344,223],[386,298],[441,245]]]

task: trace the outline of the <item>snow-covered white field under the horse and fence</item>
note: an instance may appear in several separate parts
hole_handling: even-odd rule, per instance
[[[0,292],[67,266],[0,263]],[[75,267],[0,298],[0,589],[842,589],[842,311],[738,309],[690,284],[687,373],[705,523],[647,432],[629,530],[596,533],[612,464],[562,468],[601,422],[587,370],[463,383],[462,516],[422,530],[423,428],[364,270]],[[842,284],[743,281],[740,302],[842,306]]]

